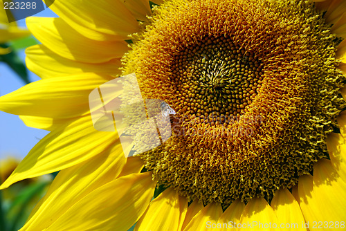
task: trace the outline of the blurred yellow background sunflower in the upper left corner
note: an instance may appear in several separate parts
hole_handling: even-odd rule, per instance
[[[0,44],[4,44],[13,39],[19,39],[30,35],[29,31],[25,28],[19,28],[15,22],[8,22],[6,11],[0,9]],[[0,55],[10,53],[10,48],[0,47]]]

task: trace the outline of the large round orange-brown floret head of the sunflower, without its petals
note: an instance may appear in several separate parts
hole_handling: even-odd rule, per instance
[[[173,0],[132,35],[123,73],[176,111],[172,136],[138,154],[190,201],[271,200],[313,163],[345,108],[322,12],[298,0]]]

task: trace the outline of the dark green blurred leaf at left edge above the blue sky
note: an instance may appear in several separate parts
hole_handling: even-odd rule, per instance
[[[2,48],[8,48],[8,44],[0,44],[0,46]],[[1,55],[0,61],[8,64],[8,66],[10,66],[10,68],[15,71],[15,73],[17,73],[21,80],[23,80],[26,84],[30,83],[26,66],[17,55],[16,50],[12,50],[12,52],[8,53],[7,55]]]

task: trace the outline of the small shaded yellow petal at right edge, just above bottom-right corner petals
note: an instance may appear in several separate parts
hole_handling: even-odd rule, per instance
[[[327,137],[327,149],[331,165],[339,176],[346,181],[346,140],[340,134],[330,133]]]

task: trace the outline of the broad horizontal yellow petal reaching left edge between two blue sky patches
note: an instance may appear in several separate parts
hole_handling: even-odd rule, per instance
[[[89,93],[113,78],[93,73],[39,80],[0,98],[0,110],[16,115],[71,118],[89,111]]]

